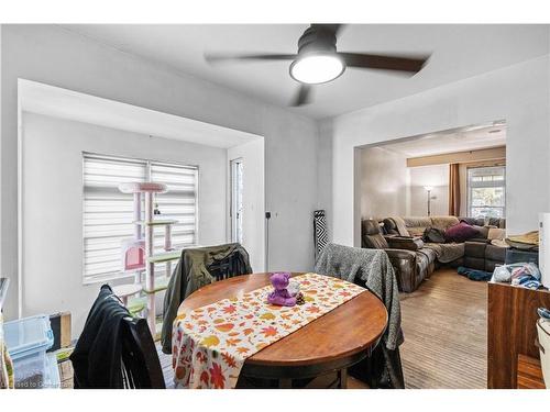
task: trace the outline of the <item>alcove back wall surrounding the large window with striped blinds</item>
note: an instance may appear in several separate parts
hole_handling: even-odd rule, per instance
[[[70,311],[79,333],[99,285],[82,285],[82,152],[199,167],[199,242],[226,242],[222,148],[24,113],[23,315]]]

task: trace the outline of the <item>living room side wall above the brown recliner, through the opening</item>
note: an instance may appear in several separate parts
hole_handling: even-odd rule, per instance
[[[406,156],[367,147],[361,151],[361,218],[409,215]]]

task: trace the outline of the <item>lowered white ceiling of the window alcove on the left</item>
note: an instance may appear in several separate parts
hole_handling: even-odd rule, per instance
[[[23,111],[207,146],[229,148],[261,138],[246,132],[31,80],[19,80],[18,96]]]

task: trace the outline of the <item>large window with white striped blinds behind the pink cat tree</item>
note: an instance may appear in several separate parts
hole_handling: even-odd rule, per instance
[[[156,181],[168,192],[155,199],[163,218],[173,226],[175,248],[197,243],[198,168],[153,160],[84,154],[84,282],[124,276],[121,241],[133,237],[132,194],[121,193],[119,183]],[[144,210],[144,205],[142,207]],[[164,230],[155,231],[155,252],[164,246]],[[158,271],[162,272],[158,265]]]

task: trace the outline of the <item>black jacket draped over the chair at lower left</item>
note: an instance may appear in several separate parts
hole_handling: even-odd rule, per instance
[[[75,388],[164,388],[146,321],[133,319],[108,285],[70,355]]]

